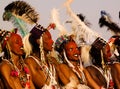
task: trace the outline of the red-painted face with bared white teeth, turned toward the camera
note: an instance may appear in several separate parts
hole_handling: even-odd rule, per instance
[[[65,45],[65,51],[68,60],[79,60],[80,52],[75,42],[68,42]]]

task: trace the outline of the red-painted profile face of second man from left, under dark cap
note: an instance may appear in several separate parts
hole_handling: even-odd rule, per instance
[[[43,34],[43,47],[45,51],[52,51],[53,40],[49,31]]]

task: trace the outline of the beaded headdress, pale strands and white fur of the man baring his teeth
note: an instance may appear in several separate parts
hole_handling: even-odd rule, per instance
[[[71,39],[71,36],[68,36],[68,35],[61,35],[60,37],[58,37],[56,42],[55,42],[55,50],[59,53],[59,58],[63,61],[62,63],[67,64],[72,69],[72,71],[78,76],[78,78],[80,80],[80,84],[78,84],[78,85],[75,84],[76,80],[74,78],[72,78],[72,76],[71,76],[70,77],[70,82],[67,85],[65,85],[64,88],[65,89],[73,89],[73,88],[77,87],[77,89],[90,89],[85,83],[86,78],[85,78],[85,75],[82,71],[83,66],[82,66],[82,62],[80,61],[81,60],[80,57],[79,57],[79,60],[77,61],[77,63],[78,63],[77,67],[79,69],[78,71],[82,74],[82,76],[80,76],[79,72],[75,69],[76,66],[74,66],[68,60],[68,58],[66,56],[66,52],[64,50],[65,49],[64,45],[67,42],[70,42],[70,39]],[[63,56],[61,55],[62,52],[63,52]]]

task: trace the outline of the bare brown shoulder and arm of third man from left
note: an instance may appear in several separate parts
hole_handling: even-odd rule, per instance
[[[70,82],[71,77],[75,78],[75,80],[78,82],[77,76],[70,69],[70,67],[68,67],[66,64],[57,62],[57,60],[54,57],[51,57],[50,61],[55,66],[57,75],[64,85],[66,85]]]

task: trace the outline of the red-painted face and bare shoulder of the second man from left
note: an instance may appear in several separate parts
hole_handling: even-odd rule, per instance
[[[39,44],[40,40],[36,39],[36,42]],[[43,33],[43,50],[44,50],[46,63],[48,62],[47,60],[48,58],[46,57],[46,55],[48,54],[49,51],[52,51],[52,45],[53,45],[53,40],[51,38],[50,32],[49,31],[44,32]],[[40,62],[39,51],[34,52],[31,55]],[[40,65],[34,60],[33,57],[27,57],[25,59],[25,63],[29,66],[31,70],[34,84],[38,89],[41,89],[45,84],[49,85],[50,78],[48,77],[48,74],[46,76],[46,74],[44,73]]]

